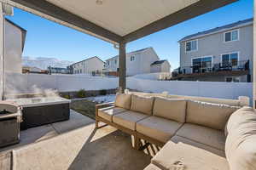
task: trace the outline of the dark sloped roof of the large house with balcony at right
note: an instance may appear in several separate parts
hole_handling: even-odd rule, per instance
[[[239,20],[237,22],[234,22],[234,23],[231,23],[231,24],[228,24],[228,25],[225,25],[225,26],[219,26],[219,27],[207,30],[207,31],[197,32],[195,34],[191,34],[189,36],[183,37],[178,42],[188,41],[188,40],[193,39],[195,37],[205,37],[205,36],[207,36],[209,34],[212,34],[212,33],[217,33],[219,31],[227,31],[227,30],[230,30],[230,29],[235,28],[235,27],[247,26],[248,24],[253,24],[253,18],[247,19],[247,20]]]

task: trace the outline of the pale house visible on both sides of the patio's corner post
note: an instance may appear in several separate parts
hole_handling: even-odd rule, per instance
[[[150,73],[152,65],[155,61],[159,61],[158,55],[155,53],[154,48],[143,48],[137,51],[126,54],[126,76],[134,76],[137,74],[146,74]],[[168,61],[166,61],[168,62]],[[164,67],[164,65],[163,65]],[[167,68],[159,69],[158,71],[167,71],[170,66],[167,65]],[[105,64],[106,72],[118,72],[119,71],[119,56],[114,56],[106,60]],[[157,70],[155,70],[157,71]],[[118,74],[117,74],[118,75]]]

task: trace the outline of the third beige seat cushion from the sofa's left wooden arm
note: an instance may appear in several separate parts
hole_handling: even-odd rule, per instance
[[[140,122],[137,122],[136,130],[138,133],[157,139],[161,142],[167,142],[177,132],[182,123],[171,121],[158,116],[149,116]]]

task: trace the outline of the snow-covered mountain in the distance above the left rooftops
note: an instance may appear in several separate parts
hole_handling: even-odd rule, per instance
[[[49,65],[51,67],[61,67],[66,68],[67,65],[72,65],[73,61],[55,59],[55,58],[46,58],[46,57],[22,57],[23,66],[38,67],[40,69],[46,70]]]

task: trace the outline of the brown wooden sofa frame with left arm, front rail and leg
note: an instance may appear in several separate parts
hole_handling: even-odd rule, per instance
[[[133,131],[129,128],[120,126],[117,123],[114,122],[109,122],[108,120],[102,118],[101,116],[98,116],[98,110],[105,108],[105,107],[109,107],[112,106],[114,104],[114,102],[110,102],[110,103],[104,103],[104,104],[99,104],[96,105],[96,128],[100,128],[99,127],[99,122],[104,122],[107,125],[110,125],[112,127],[116,127],[117,129],[119,129],[120,131],[124,132],[124,133],[128,133],[131,134],[134,137],[134,145],[132,146],[135,150],[142,150],[143,149],[143,145],[141,143],[141,139],[145,140],[145,143],[148,144],[156,144],[160,147],[162,147],[165,143],[157,140],[157,139],[153,139],[150,138],[142,133],[138,133],[137,131]]]

